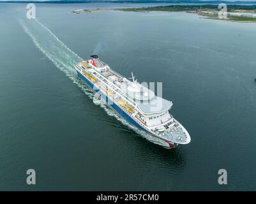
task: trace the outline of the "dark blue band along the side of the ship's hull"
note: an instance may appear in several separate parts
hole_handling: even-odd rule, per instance
[[[84,83],[86,83],[91,89],[93,89],[94,92],[96,92],[99,96],[101,96],[109,106],[111,106],[117,113],[119,113],[119,115],[121,115],[121,117],[123,117],[124,120],[126,120],[127,122],[132,124],[132,126],[135,126],[136,128],[146,131],[139,124],[137,124],[137,122],[135,122],[135,120],[133,120],[132,117],[130,117],[121,108],[119,108],[119,106],[117,106],[110,98],[105,96],[105,94],[103,94],[103,92],[101,92],[91,82],[89,82],[89,80],[87,80],[87,78],[85,78],[83,75],[81,75],[79,73],[79,71],[77,71],[77,75],[79,76],[80,79],[82,79],[84,81]]]

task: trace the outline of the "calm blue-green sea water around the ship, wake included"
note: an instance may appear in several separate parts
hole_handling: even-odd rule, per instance
[[[38,4],[36,21],[26,4],[0,4],[0,190],[255,190],[256,24],[71,13],[118,6],[133,5]],[[95,105],[72,68],[91,54],[163,82],[192,142],[164,149]]]

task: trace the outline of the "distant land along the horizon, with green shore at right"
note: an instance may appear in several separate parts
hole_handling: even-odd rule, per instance
[[[91,13],[94,11],[102,10],[115,10],[115,11],[134,11],[134,12],[151,12],[151,11],[167,11],[167,12],[177,12],[183,11],[187,13],[195,13],[201,15],[204,18],[211,18],[215,20],[228,20],[236,22],[256,22],[256,1],[199,1],[199,0],[170,0],[170,1],[142,1],[142,0],[56,0],[56,1],[1,1],[0,3],[36,3],[36,4],[81,4],[81,3],[131,3],[131,4],[167,4],[169,6],[148,6],[148,7],[126,7],[126,8],[97,8],[94,10],[81,9],[73,10],[72,13]],[[219,18],[218,4],[227,4],[227,17]]]

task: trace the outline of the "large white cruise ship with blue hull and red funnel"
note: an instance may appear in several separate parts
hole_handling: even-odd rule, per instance
[[[170,115],[172,102],[160,98],[135,80],[125,78],[98,55],[75,65],[78,77],[120,117],[135,128],[161,140],[168,148],[190,143],[188,131]]]

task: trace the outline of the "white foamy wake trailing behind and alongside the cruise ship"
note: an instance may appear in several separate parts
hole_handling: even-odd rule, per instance
[[[30,20],[31,22],[31,20]],[[40,25],[36,25],[34,24]],[[63,41],[59,40],[57,36],[50,31],[48,27],[41,24],[38,20],[35,20],[32,22],[31,26],[25,25],[25,23],[20,20],[20,24],[24,28],[24,31],[31,37],[34,45],[50,60],[52,63],[56,66],[56,68],[63,71],[67,77],[69,77],[73,83],[77,84],[77,86],[82,89],[82,91],[89,96],[90,99],[94,99],[94,92],[91,91],[84,85],[82,82],[80,82],[79,78],[77,77],[77,74],[75,73],[75,69],[73,68],[74,64],[77,64],[77,62],[82,61],[83,59],[79,57],[75,52],[70,50]],[[36,27],[36,29],[33,30],[33,26]],[[43,29],[42,29],[43,28]],[[122,119],[117,115],[116,112],[114,112],[111,108],[109,108],[107,105],[105,105],[102,101],[94,101],[97,103],[97,105],[100,105],[105,112],[107,112],[108,115],[114,116],[117,120],[122,122],[125,126],[128,126],[129,128],[133,129],[138,135],[142,136],[143,138],[146,138],[150,142],[156,143],[158,145],[161,145],[163,147],[169,147],[167,146],[167,143],[162,142],[162,140],[159,140],[158,138],[155,138],[154,136],[151,136],[144,131],[137,129],[130,125],[126,120]]]

